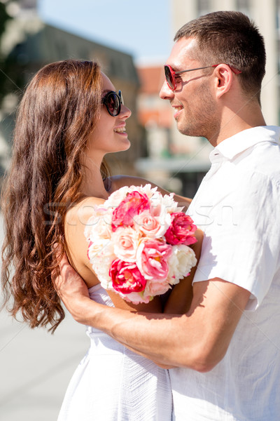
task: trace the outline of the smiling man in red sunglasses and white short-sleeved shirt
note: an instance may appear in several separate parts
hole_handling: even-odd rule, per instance
[[[188,210],[204,230],[190,310],[98,305],[65,261],[57,288],[80,323],[179,367],[169,370],[176,421],[279,420],[280,128],[260,109],[263,39],[245,15],[215,12],[174,40],[160,97],[181,133],[215,147]]]

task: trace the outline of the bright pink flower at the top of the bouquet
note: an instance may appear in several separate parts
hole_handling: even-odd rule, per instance
[[[113,210],[112,231],[115,232],[118,227],[132,227],[134,225],[134,216],[149,208],[149,199],[145,193],[128,193],[119,206]]]

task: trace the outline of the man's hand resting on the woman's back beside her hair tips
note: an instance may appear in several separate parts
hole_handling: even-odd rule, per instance
[[[90,300],[87,286],[75,269],[71,267],[65,253],[59,262],[59,269],[60,274],[52,277],[55,290],[57,290],[59,297],[73,316],[73,319],[79,323],[86,324],[83,315],[85,314],[87,302]]]

